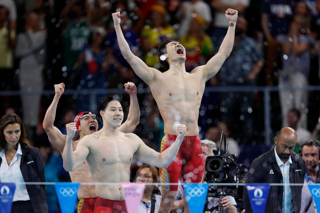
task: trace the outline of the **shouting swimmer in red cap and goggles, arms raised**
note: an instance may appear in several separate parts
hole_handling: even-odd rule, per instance
[[[54,118],[56,115],[56,109],[61,95],[64,92],[65,85],[63,83],[54,85],[55,96],[51,105],[49,106],[43,121],[43,127],[47,133],[50,142],[56,147],[60,153],[63,153],[63,149],[66,144],[66,135],[63,135],[60,130],[53,126]],[[127,120],[119,127],[119,131],[124,133],[132,133],[132,131],[139,124],[140,109],[137,99],[137,88],[132,82],[124,84],[125,91],[130,95],[130,108]],[[81,118],[83,117],[83,118]],[[78,122],[79,139],[72,141],[72,147],[75,150],[78,142],[85,136],[90,135],[98,130],[98,122],[93,113],[81,112],[76,116]],[[93,182],[92,176],[88,164],[84,162],[76,170],[70,171],[70,178],[72,182]],[[78,213],[84,212],[84,210],[91,210],[93,212],[94,202],[96,200],[96,191],[94,185],[80,185],[78,189]]]

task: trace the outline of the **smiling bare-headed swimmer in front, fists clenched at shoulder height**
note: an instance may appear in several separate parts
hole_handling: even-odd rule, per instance
[[[187,127],[179,124],[178,135],[171,147],[162,153],[149,148],[137,135],[122,133],[119,126],[123,120],[123,111],[119,96],[106,95],[99,103],[97,113],[102,120],[101,130],[86,135],[79,141],[76,150],[72,147],[72,138],[76,132],[74,124],[67,124],[67,142],[62,153],[63,167],[73,171],[83,162],[89,165],[94,182],[119,183],[130,181],[130,164],[133,154],[142,162],[158,168],[167,167],[178,153]],[[74,151],[73,151],[74,150]],[[96,184],[98,196],[94,212],[126,212],[124,193],[119,184]]]

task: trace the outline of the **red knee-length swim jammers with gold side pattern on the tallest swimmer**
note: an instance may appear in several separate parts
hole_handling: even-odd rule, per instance
[[[161,152],[170,147],[176,135],[164,134]],[[199,136],[185,136],[179,152],[168,168],[160,168],[161,183],[178,183],[181,174],[183,183],[200,183],[203,179],[204,160]],[[162,190],[177,191],[177,185],[162,185]]]

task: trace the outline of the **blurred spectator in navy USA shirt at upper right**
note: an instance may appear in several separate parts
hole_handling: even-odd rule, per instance
[[[280,43],[276,36],[288,34],[289,25],[293,19],[295,2],[285,0],[264,1],[262,6],[261,27],[267,42],[268,61],[266,70],[266,85],[273,85],[274,70],[280,60]]]

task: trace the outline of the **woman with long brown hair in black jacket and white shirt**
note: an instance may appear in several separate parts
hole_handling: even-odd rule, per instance
[[[45,182],[44,158],[30,146],[21,118],[0,119],[0,182]],[[47,213],[45,185],[16,184],[11,213]]]

